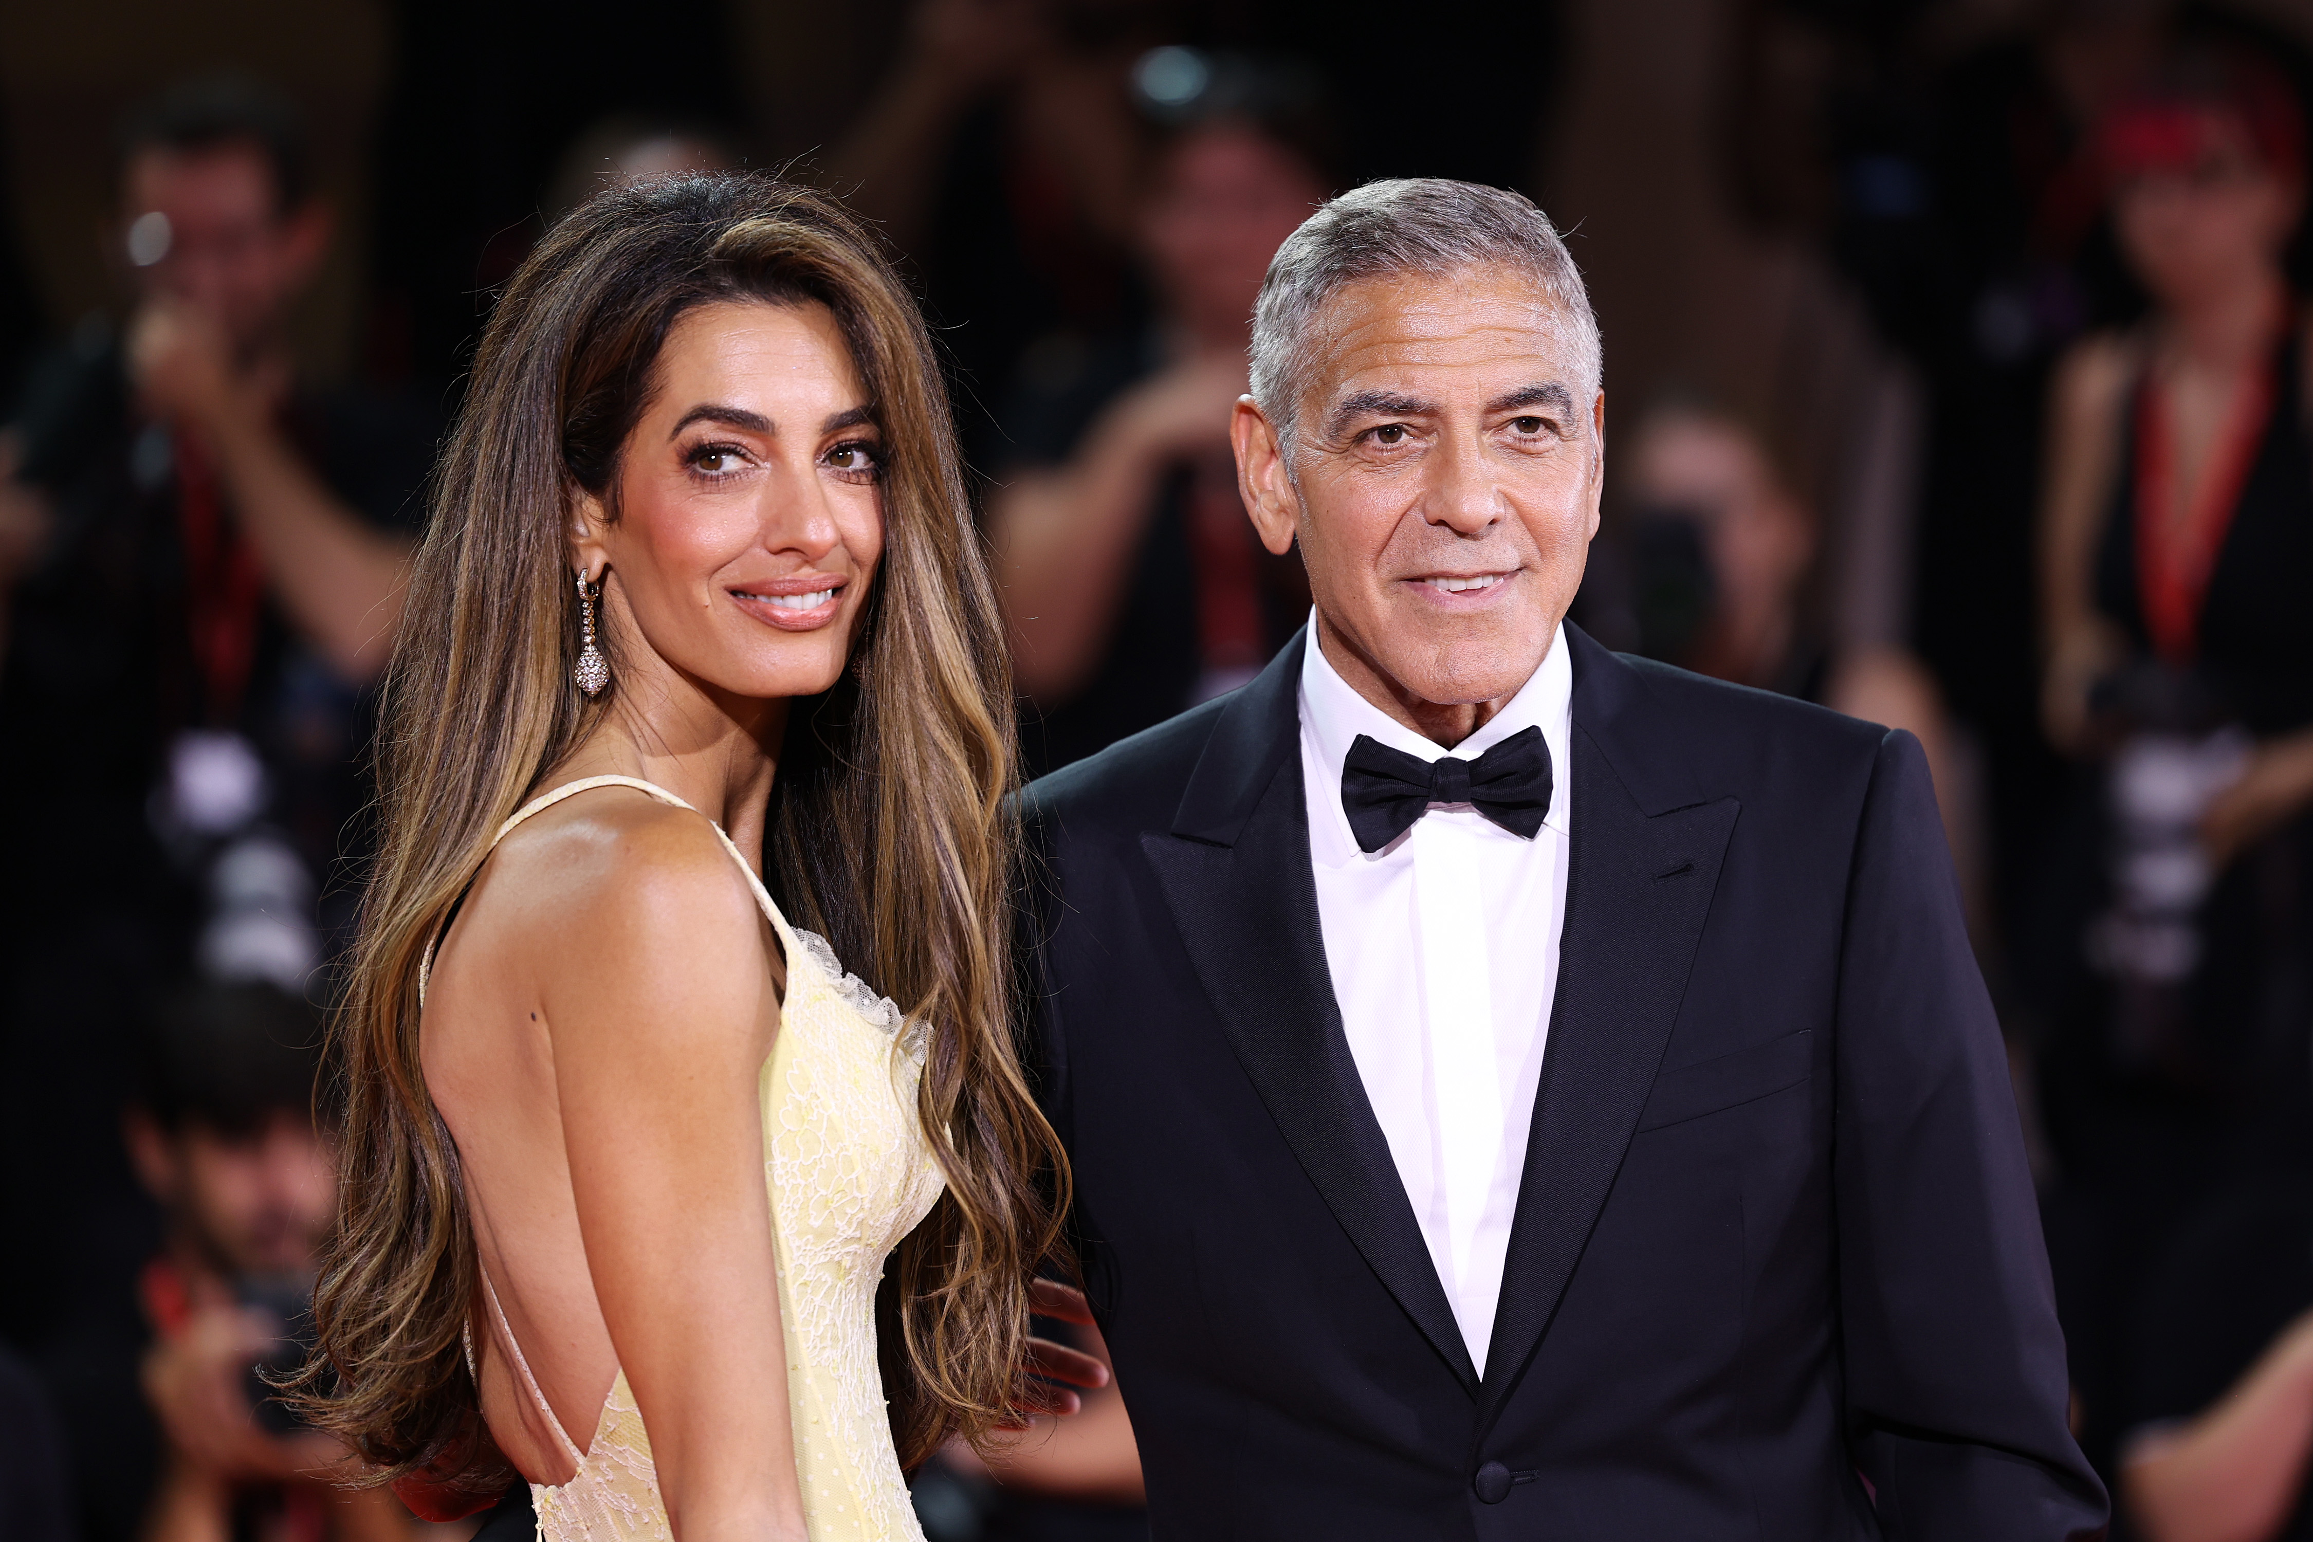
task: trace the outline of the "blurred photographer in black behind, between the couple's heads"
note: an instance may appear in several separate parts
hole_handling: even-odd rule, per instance
[[[1191,49],[1152,49],[1133,79],[1156,129],[1133,229],[1161,310],[1029,349],[988,497],[1039,772],[1244,684],[1309,617],[1300,555],[1265,553],[1244,516],[1228,412],[1270,257],[1330,192],[1316,81]]]

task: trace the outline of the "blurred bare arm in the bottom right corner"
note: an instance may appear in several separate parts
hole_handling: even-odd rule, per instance
[[[2188,1424],[2140,1438],[2121,1496],[2151,1542],[2269,1542],[2313,1452],[2313,1313]]]

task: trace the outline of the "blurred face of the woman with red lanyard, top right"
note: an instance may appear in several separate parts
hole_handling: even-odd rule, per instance
[[[2248,136],[2214,120],[2181,166],[2119,183],[2114,215],[2128,266],[2163,305],[2188,305],[2276,268],[2297,227],[2299,190],[2257,160]]]

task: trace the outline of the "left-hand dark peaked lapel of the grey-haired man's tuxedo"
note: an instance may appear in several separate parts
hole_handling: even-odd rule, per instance
[[[1295,638],[1221,710],[1173,830],[1145,835],[1143,851],[1221,1031],[1293,1156],[1404,1313],[1476,1392],[1332,996],[1302,800],[1302,645]]]

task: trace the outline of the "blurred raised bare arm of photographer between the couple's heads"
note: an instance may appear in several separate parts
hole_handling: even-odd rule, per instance
[[[1180,363],[1117,398],[1073,460],[1020,474],[990,499],[1013,670],[1041,705],[1092,675],[1159,481],[1187,453],[1226,453],[1240,391],[1244,361],[1233,354]]]

